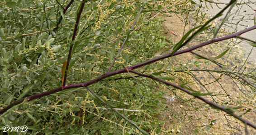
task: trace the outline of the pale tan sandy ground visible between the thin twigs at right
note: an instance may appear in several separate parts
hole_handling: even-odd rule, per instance
[[[172,41],[174,43],[177,43],[182,35],[184,34],[184,22],[182,21],[181,16],[177,16],[175,14],[168,14],[170,17],[166,17],[166,21],[163,23],[165,27],[165,32],[164,36],[166,36],[167,41]],[[188,31],[188,29],[185,29],[185,31]],[[194,44],[197,44],[199,42],[195,42]],[[216,50],[218,49],[218,50]],[[244,48],[246,49],[246,48]],[[214,46],[214,45],[208,45],[203,47],[199,52],[200,54],[203,54],[205,56],[217,56],[219,52],[225,50],[225,48],[221,48],[219,46]],[[237,58],[237,60],[234,61],[229,61],[228,64],[232,63],[233,66],[235,64],[239,64],[239,61],[244,61],[245,58],[243,58],[243,55],[241,54],[241,51],[239,48],[234,51],[234,53],[230,56],[230,58]],[[238,57],[240,56],[240,57]],[[173,63],[174,65],[179,65],[181,63],[186,63],[188,60],[192,58],[192,55],[189,53],[186,54],[181,54],[177,56],[176,63]],[[203,60],[201,61],[203,63]],[[219,62],[223,62],[222,59],[220,59]],[[250,63],[252,65],[254,63]],[[202,66],[203,67],[203,66]],[[196,67],[193,67],[196,68]],[[207,69],[211,70],[221,70],[218,66],[214,64],[210,64]],[[207,84],[209,82],[213,82],[215,78],[218,78],[220,74],[218,73],[212,73],[209,74],[208,72],[194,72],[194,74],[200,78],[201,82],[204,84]],[[221,84],[221,85],[220,85]],[[193,86],[192,86],[193,87]],[[241,86],[242,88],[242,86]],[[206,85],[206,89],[209,90],[210,92],[219,94],[219,92],[222,92],[223,90],[227,91],[228,94],[230,94],[230,98],[233,99],[233,101],[237,102],[238,100],[242,100],[240,97],[241,93],[239,91],[240,88],[236,87],[234,82],[228,77],[228,76],[223,76],[222,79],[220,79],[218,82],[214,82],[210,85]],[[203,92],[206,92],[203,87],[200,86],[200,90]],[[172,93],[169,93],[172,94]],[[181,95],[182,96],[182,95]],[[185,94],[185,97],[190,97],[189,95]],[[241,98],[241,99],[240,99]],[[211,98],[208,98],[209,100],[212,100]],[[227,103],[230,102],[230,106],[236,105],[235,102],[232,102],[232,100],[226,97],[221,97],[221,96],[216,96],[216,100],[218,101],[226,101]],[[233,103],[233,104],[232,104]],[[163,115],[161,116],[161,119],[166,119],[166,127],[167,129],[179,129],[181,134],[192,134],[194,132],[194,126],[202,126],[202,128],[199,128],[200,130],[203,130],[205,128],[205,124],[209,124],[209,121],[214,120],[214,119],[219,119],[214,123],[214,126],[211,127],[210,130],[205,131],[203,134],[218,134],[218,135],[243,135],[245,134],[244,132],[244,125],[235,119],[234,117],[227,116],[225,112],[218,112],[214,109],[206,109],[206,110],[201,110],[201,111],[189,111],[187,112],[186,115],[184,115],[184,112],[182,109],[180,109],[180,105],[183,106],[183,108],[186,108],[188,110],[193,109],[190,108],[189,105],[186,105],[184,103],[181,103],[178,100],[175,100],[174,102],[171,102],[168,107],[173,111],[177,116],[179,116],[179,120],[183,121],[183,126],[182,124],[179,124],[179,121],[177,121],[175,118],[172,118],[172,114],[169,112],[164,112]],[[251,108],[250,105],[244,105],[244,108]],[[247,113],[243,118],[246,118],[247,120],[251,121],[252,123],[256,124],[256,109],[252,108],[253,111]],[[188,117],[190,116],[190,120]],[[196,120],[198,118],[199,120]],[[256,134],[256,130],[252,128],[248,128],[250,131],[251,135]]]

